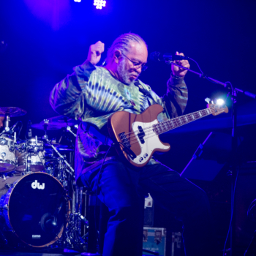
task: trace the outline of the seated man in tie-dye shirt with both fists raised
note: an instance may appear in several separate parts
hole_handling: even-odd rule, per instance
[[[57,83],[50,94],[50,105],[56,112],[81,120],[75,178],[97,192],[110,211],[102,255],[142,255],[141,198],[148,193],[183,222],[187,256],[211,255],[212,223],[206,193],[154,157],[143,167],[123,162],[111,147],[107,127],[108,118],[117,111],[141,114],[154,104],[164,108],[158,121],[182,115],[187,105],[187,70],[172,66],[167,93],[159,97],[138,80],[148,58],[146,42],[138,34],[122,34],[115,39],[106,66],[97,67],[103,51],[104,43],[91,45],[86,61]],[[189,68],[187,60],[177,63]]]

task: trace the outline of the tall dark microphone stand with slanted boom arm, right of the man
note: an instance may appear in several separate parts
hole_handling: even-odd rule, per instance
[[[191,59],[192,60],[192,59]],[[182,69],[186,69],[189,72],[192,72],[196,75],[199,75],[200,78],[206,78],[207,80],[210,80],[213,83],[220,84],[231,91],[231,118],[232,118],[232,142],[231,142],[231,148],[232,148],[232,164],[230,165],[230,171],[229,174],[232,177],[231,178],[231,229],[230,229],[230,256],[236,256],[236,212],[235,209],[235,188],[236,188],[236,181],[238,178],[238,157],[237,157],[237,151],[238,151],[238,136],[236,132],[237,128],[237,108],[236,108],[236,96],[237,93],[240,92],[248,97],[252,97],[253,99],[256,99],[256,95],[252,94],[249,91],[243,91],[241,89],[233,88],[231,83],[223,83],[219,80],[216,80],[214,78],[209,78],[207,75],[204,75],[203,73],[195,72],[192,69],[188,69],[187,67],[183,67],[179,64],[176,64],[171,59],[165,59],[166,64],[171,64],[176,67],[181,67]]]

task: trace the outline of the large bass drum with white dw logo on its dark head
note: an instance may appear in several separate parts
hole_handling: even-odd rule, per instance
[[[64,187],[47,173],[15,178],[11,185],[10,181],[0,182],[4,186],[0,187],[2,193],[10,187],[0,199],[1,215],[7,226],[30,246],[53,244],[61,237],[70,213]]]

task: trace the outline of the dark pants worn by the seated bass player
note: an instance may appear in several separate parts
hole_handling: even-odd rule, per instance
[[[97,191],[98,175],[99,170],[94,170],[81,177],[94,192]],[[183,222],[187,256],[214,255],[213,227],[206,193],[181,178],[176,171],[161,164],[135,169],[110,160],[105,162],[98,191],[99,200],[110,211],[103,256],[142,255],[141,195],[147,193]]]

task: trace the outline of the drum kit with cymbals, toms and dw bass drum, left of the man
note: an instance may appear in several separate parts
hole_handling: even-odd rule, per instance
[[[71,211],[68,183],[73,187],[74,170],[72,157],[67,162],[63,152],[72,155],[74,149],[49,140],[47,132],[66,128],[75,135],[70,127],[78,121],[65,116],[45,119],[31,125],[28,138],[20,140],[21,122],[10,127],[10,117],[25,114],[20,108],[0,108],[0,116],[4,116],[0,132],[0,244],[9,243],[7,233],[15,233],[19,241],[32,247],[50,246],[56,241],[72,245],[72,236],[78,234],[68,235],[69,231],[75,229],[79,218],[85,219]],[[44,130],[45,135],[32,138],[31,128]]]

